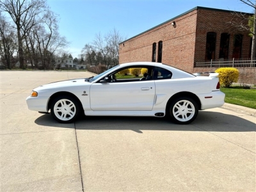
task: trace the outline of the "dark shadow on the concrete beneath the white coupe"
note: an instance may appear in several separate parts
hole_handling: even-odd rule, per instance
[[[59,124],[52,119],[51,115],[42,115],[35,120],[35,123],[51,127],[76,127],[76,129],[84,130],[132,130],[139,133],[142,133],[141,130],[255,132],[255,123],[242,117],[212,111],[199,111],[196,120],[188,125],[173,124],[167,118],[141,116],[83,116],[75,123]]]

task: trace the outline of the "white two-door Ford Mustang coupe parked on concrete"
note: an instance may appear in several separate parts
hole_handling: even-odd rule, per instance
[[[134,62],[95,77],[39,86],[26,102],[33,111],[51,111],[61,123],[84,114],[166,116],[177,124],[189,124],[198,110],[218,108],[224,99],[216,73],[195,76],[163,63]]]

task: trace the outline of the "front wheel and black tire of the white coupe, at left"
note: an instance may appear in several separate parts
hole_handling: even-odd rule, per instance
[[[74,122],[79,116],[81,105],[70,96],[59,96],[51,102],[51,115],[52,117],[62,124],[69,124]]]

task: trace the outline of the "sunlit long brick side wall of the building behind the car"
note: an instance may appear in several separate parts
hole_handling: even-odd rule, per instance
[[[176,26],[172,26],[175,21]],[[195,52],[196,10],[120,44],[120,63],[152,61],[152,44],[163,41],[162,63],[192,70]],[[156,51],[157,60],[157,51]]]

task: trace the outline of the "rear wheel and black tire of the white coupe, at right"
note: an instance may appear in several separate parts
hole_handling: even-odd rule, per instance
[[[170,103],[168,114],[176,124],[190,124],[198,115],[198,104],[190,97],[179,97]]]

